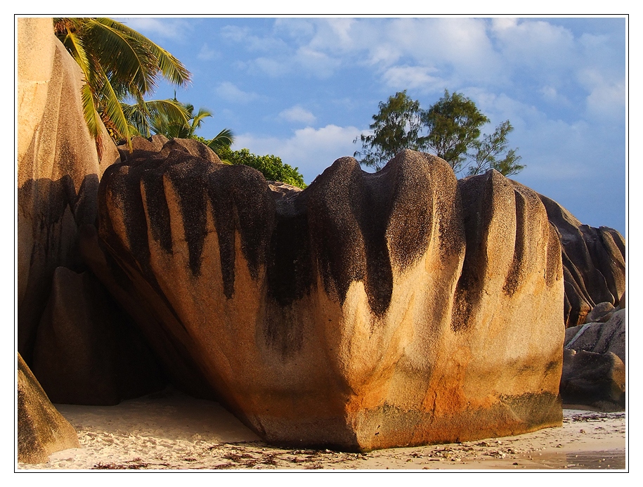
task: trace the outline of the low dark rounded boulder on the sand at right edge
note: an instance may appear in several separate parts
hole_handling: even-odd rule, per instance
[[[566,349],[560,395],[564,404],[589,405],[603,411],[625,409],[625,365],[612,352]]]

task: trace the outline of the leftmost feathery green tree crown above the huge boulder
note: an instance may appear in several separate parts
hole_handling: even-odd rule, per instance
[[[379,103],[379,113],[373,115],[369,128],[372,135],[362,134],[353,142],[362,142],[363,152],[354,157],[377,171],[403,149],[417,150],[417,139],[422,129],[420,102],[411,100],[406,91],[389,96],[387,103]]]

